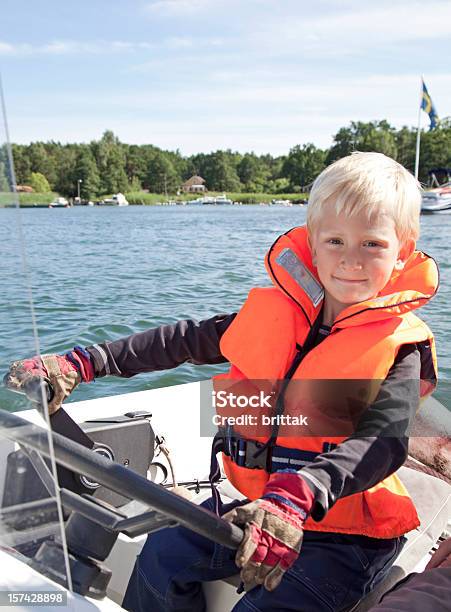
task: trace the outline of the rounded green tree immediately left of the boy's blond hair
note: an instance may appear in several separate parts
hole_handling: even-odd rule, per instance
[[[326,153],[308,143],[290,150],[282,175],[289,180],[291,191],[304,191],[324,168]]]

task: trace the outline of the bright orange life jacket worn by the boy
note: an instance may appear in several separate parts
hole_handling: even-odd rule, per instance
[[[247,381],[267,390],[268,385],[284,379],[297,352],[296,345],[303,345],[320,314],[321,286],[311,261],[305,227],[281,236],[271,247],[266,266],[275,286],[251,290],[221,338],[221,352],[232,364],[228,374],[217,377],[221,386]],[[294,371],[293,384],[288,385],[285,395],[285,412],[296,413],[302,405],[296,397],[298,383],[315,380],[373,381],[365,390],[365,401],[371,403],[400,347],[412,343],[421,349],[422,364],[433,364],[433,376],[424,367],[421,374],[424,379],[421,395],[432,392],[437,373],[434,339],[427,325],[411,311],[425,304],[437,287],[434,260],[416,251],[402,272],[393,273],[378,296],[343,310],[330,335],[310,350]],[[314,404],[310,414],[315,416]],[[317,413],[322,424],[329,416],[321,410]],[[235,427],[234,431],[249,438],[249,428]],[[340,443],[348,437],[343,431],[339,434],[283,436],[279,430],[276,444],[321,453],[325,443]],[[266,442],[268,436],[252,439]],[[250,499],[262,495],[269,476],[265,469],[241,467],[225,454],[223,464],[231,483],[244,495]],[[362,493],[338,499],[323,520],[315,522],[310,518],[305,528],[392,538],[418,525],[407,490],[398,476],[392,474]]]

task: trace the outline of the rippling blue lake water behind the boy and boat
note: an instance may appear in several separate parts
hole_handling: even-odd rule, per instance
[[[42,352],[234,312],[251,287],[270,283],[264,255],[278,235],[304,223],[305,213],[298,206],[0,209],[0,373],[10,361],[36,352],[29,286]],[[421,226],[418,246],[439,263],[441,288],[419,313],[436,334],[446,383],[451,215],[422,217]],[[185,364],[131,379],[109,377],[81,385],[71,400],[199,380],[224,369]],[[444,383],[438,397],[449,405]],[[0,406],[28,407],[4,389]]]

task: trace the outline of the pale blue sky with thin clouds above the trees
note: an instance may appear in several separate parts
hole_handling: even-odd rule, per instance
[[[421,74],[451,115],[449,0],[2,0],[0,16],[13,142],[328,147],[351,120],[416,125]]]

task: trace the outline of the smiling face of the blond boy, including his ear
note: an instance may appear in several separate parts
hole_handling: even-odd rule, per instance
[[[415,248],[413,240],[401,245],[393,218],[384,212],[368,220],[363,213],[350,217],[327,208],[310,244],[332,321],[347,306],[375,297]]]

